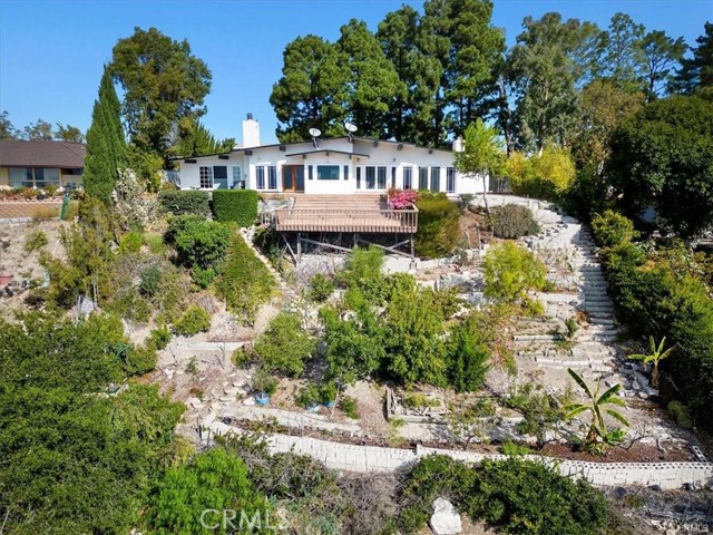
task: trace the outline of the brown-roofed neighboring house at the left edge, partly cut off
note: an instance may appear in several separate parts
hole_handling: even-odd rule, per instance
[[[81,143],[0,140],[0,187],[81,183],[85,153]]]

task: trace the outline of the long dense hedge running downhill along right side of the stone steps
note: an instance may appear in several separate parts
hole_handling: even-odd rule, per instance
[[[617,317],[642,341],[649,335],[666,337],[674,350],[661,363],[662,373],[672,379],[675,396],[688,403],[699,422],[713,429],[713,300],[709,289],[700,278],[632,243],[631,227],[619,217],[608,218],[616,228],[599,224],[594,237],[611,244],[602,256]]]

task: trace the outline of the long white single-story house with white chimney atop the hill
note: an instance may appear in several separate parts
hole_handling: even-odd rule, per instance
[[[243,121],[243,147],[176,158],[182,189],[250,188],[264,193],[385,193],[390,187],[460,195],[480,193],[487,178],[463,176],[453,153],[363,137],[261,145],[256,120]]]

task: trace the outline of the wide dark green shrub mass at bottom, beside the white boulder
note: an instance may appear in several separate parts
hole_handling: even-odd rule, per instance
[[[424,526],[437,497],[502,533],[598,535],[607,522],[606,498],[588,483],[518,458],[484,460],[476,467],[447,456],[421,459],[401,489],[403,533]]]

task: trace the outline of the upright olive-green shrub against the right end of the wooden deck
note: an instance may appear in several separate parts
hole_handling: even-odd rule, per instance
[[[445,193],[422,193],[416,206],[419,208],[416,254],[427,259],[451,254],[460,234],[458,205]]]

